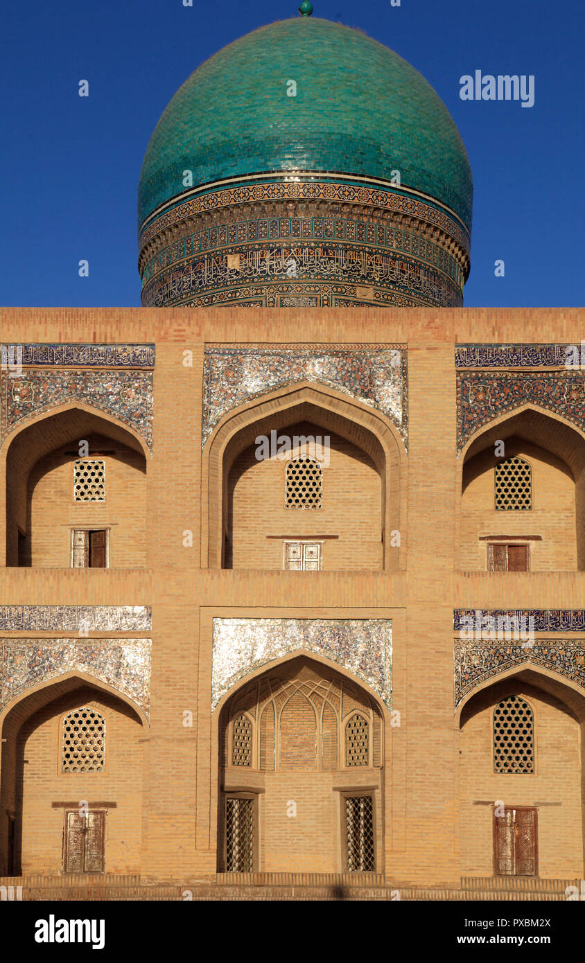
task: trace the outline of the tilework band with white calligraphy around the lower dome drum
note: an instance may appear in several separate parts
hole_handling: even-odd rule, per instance
[[[388,253],[386,248],[364,247],[358,243],[354,247],[257,244],[230,246],[229,254],[234,253],[240,257],[239,270],[229,267],[228,253],[222,250],[191,254],[181,263],[159,271],[143,288],[143,305],[191,303],[194,297],[205,293],[250,284],[266,287],[290,276],[315,283],[335,281],[374,286],[411,295],[421,305],[460,307],[463,304],[461,288],[446,274],[404,253]],[[319,283],[318,291],[320,287]]]

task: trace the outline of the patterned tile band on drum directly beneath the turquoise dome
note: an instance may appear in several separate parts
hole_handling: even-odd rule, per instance
[[[303,171],[301,176],[306,177],[309,174]],[[310,200],[327,201],[328,203],[337,201],[342,204],[379,207],[387,213],[395,212],[417,218],[420,221],[427,221],[454,238],[466,252],[469,251],[469,232],[461,221],[449,217],[439,207],[427,204],[412,195],[409,196],[408,193],[397,194],[390,189],[381,190],[380,188],[360,186],[359,182],[349,184],[347,182],[324,181],[322,179],[323,174],[318,171],[314,176],[318,177],[320,182],[314,180],[305,182],[283,180],[269,184],[244,183],[224,190],[214,190],[213,184],[207,185],[204,188],[204,193],[197,192],[196,196],[186,201],[175,201],[175,206],[166,210],[158,218],[149,221],[139,235],[140,249],[143,250],[157,234],[167,227],[180,223],[180,221],[187,221],[206,211],[262,201]]]

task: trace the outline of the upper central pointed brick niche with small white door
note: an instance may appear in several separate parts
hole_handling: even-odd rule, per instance
[[[255,439],[274,431],[330,436],[323,508],[285,508],[285,461],[255,455]],[[404,443],[383,414],[323,385],[279,389],[226,415],[203,449],[202,478],[203,567],[281,569],[287,538],[319,536],[326,569],[404,564]]]

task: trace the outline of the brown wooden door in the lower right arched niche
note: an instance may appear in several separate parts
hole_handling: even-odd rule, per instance
[[[536,809],[504,809],[494,817],[494,863],[498,876],[536,876],[538,872]]]

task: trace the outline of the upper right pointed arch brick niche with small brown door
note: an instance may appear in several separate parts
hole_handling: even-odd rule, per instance
[[[511,459],[513,508],[501,507],[499,487],[496,506],[495,469],[504,459]],[[585,568],[585,438],[578,429],[532,406],[499,418],[460,455],[459,486],[461,570],[485,571],[494,544],[527,546],[532,571]]]

